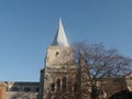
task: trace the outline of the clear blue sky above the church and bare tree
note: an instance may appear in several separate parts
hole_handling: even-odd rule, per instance
[[[70,44],[103,43],[132,57],[132,0],[0,0],[0,80],[38,81],[62,18]]]

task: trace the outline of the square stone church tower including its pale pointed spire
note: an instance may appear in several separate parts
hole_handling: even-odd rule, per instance
[[[74,97],[69,91],[74,90],[72,86],[75,84],[77,72],[73,58],[73,48],[59,19],[53,44],[47,47],[44,69],[41,70],[38,99],[70,99]]]

